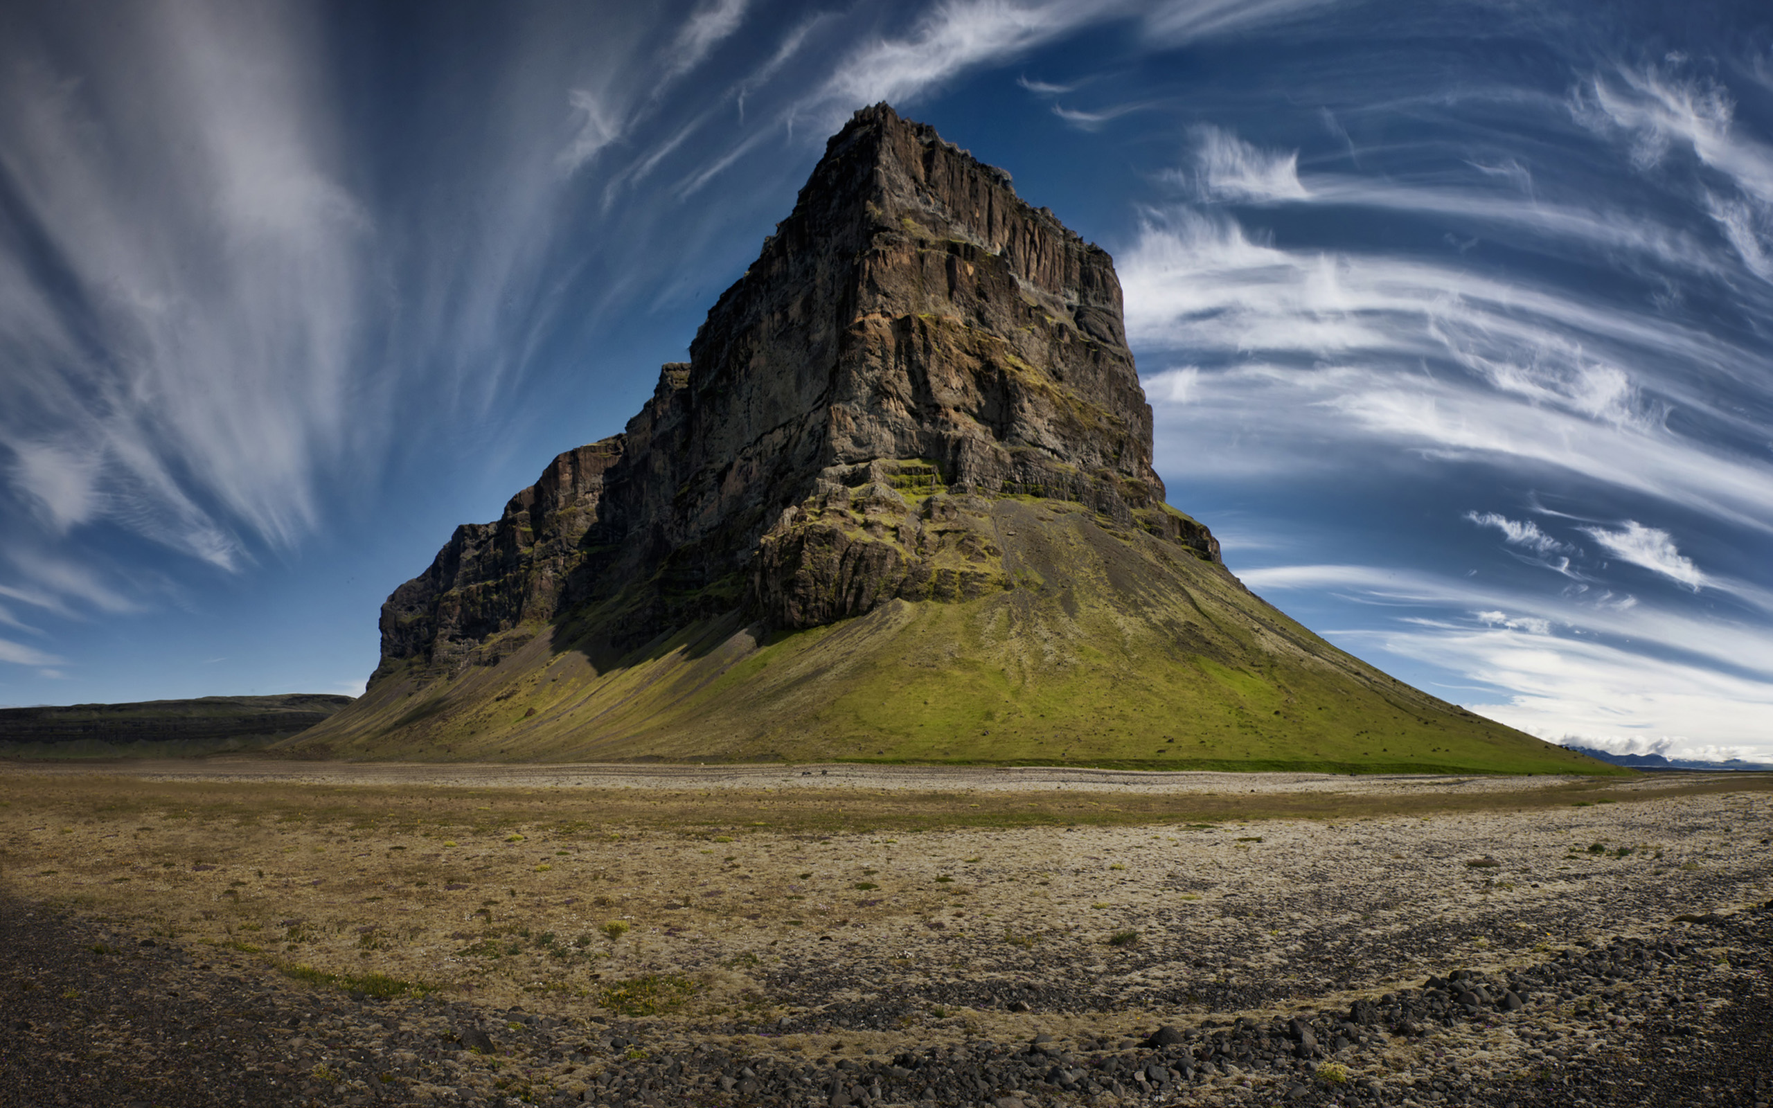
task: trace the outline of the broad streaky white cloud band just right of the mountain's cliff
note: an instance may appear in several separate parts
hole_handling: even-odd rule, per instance
[[[1186,406],[1154,399],[1160,452],[1181,436],[1190,470],[1365,466],[1415,450],[1562,470],[1773,530],[1766,457],[1667,420],[1679,406],[1755,434],[1720,397],[1773,402],[1764,351],[1580,289],[1284,250],[1223,213],[1149,213],[1117,268],[1140,355],[1186,353],[1199,367]],[[1241,449],[1218,449],[1229,443]]]

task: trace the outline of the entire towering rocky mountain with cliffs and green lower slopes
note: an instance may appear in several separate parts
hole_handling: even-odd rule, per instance
[[[1615,771],[1250,594],[1165,503],[1108,254],[886,105],[622,434],[394,590],[300,745]]]

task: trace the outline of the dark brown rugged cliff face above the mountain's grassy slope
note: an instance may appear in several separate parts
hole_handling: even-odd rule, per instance
[[[1007,580],[950,500],[968,493],[1076,502],[1218,558],[1163,503],[1110,257],[878,105],[628,429],[388,597],[378,677],[491,663],[592,608],[622,652],[718,612],[798,629],[979,597]]]

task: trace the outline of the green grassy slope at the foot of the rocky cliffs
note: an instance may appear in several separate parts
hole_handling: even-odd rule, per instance
[[[1064,502],[986,514],[1014,587],[975,601],[894,601],[768,642],[715,619],[622,659],[601,658],[598,613],[582,613],[449,683],[397,672],[298,743],[413,759],[1617,771],[1386,677],[1179,546]]]

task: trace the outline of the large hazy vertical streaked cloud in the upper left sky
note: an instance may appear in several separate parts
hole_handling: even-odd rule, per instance
[[[314,14],[115,12],[80,80],[0,48],[0,163],[74,287],[0,308],[25,351],[0,441],[21,491],[59,498],[51,527],[106,519],[223,567],[238,528],[289,546],[312,527],[372,300]],[[7,257],[0,285],[37,284],[32,264]]]

